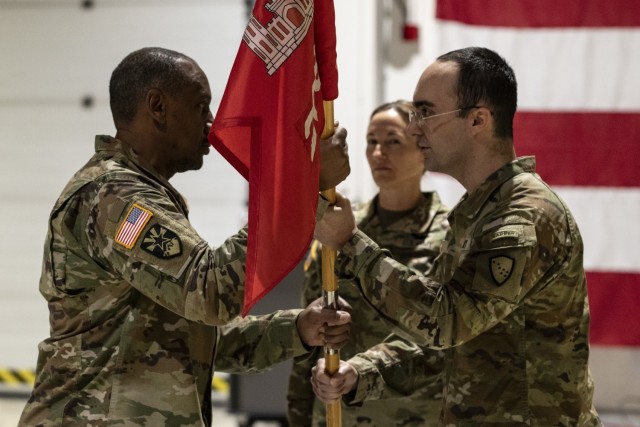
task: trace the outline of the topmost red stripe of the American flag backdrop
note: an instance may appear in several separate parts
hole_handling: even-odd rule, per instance
[[[639,27],[637,8],[637,0],[438,0],[436,16],[491,27]]]

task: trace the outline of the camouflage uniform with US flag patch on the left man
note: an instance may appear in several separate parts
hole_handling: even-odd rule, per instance
[[[96,137],[50,216],[40,292],[51,335],[20,425],[210,425],[214,353],[223,366],[227,355],[249,366],[246,352],[261,345],[256,363],[279,361],[285,352],[271,343],[304,353],[295,311],[242,323],[245,339],[220,337],[216,351],[214,325],[241,310],[247,232],[212,249],[187,215],[133,150]],[[247,345],[261,334],[269,338]]]

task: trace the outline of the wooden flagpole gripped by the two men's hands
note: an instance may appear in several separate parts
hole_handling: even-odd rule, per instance
[[[323,101],[324,129],[322,139],[333,136],[335,125],[333,119],[333,101]],[[336,189],[330,188],[322,192],[322,196],[333,205],[336,202]],[[336,279],[336,251],[322,245],[322,296],[324,306],[338,309],[338,280]],[[333,375],[340,368],[340,350],[324,347],[325,372]],[[342,427],[342,407],[340,401],[327,403],[327,427]]]

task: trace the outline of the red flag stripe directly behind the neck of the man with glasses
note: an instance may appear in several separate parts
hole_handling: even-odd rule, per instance
[[[551,185],[640,187],[640,113],[519,112],[514,139]]]

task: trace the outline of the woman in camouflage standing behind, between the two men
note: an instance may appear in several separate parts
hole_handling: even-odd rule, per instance
[[[378,106],[369,119],[366,135],[366,157],[371,175],[379,188],[378,194],[367,203],[355,207],[358,228],[388,250],[399,262],[420,271],[428,271],[440,253],[440,246],[448,229],[448,209],[436,192],[421,191],[425,173],[422,150],[414,135],[407,132],[413,107],[408,101],[395,101]],[[319,245],[314,244],[305,263],[303,304],[307,305],[321,294],[322,259],[317,256]],[[371,278],[368,278],[371,281]],[[358,279],[356,279],[358,280]],[[368,282],[359,284],[362,287]],[[357,289],[349,283],[340,284],[340,295],[352,306],[351,338],[341,349],[341,357],[349,359],[370,349],[368,354],[381,355],[390,363],[409,352],[420,352],[415,344],[389,335],[389,325],[380,319],[376,310],[368,306]],[[382,341],[385,341],[383,344]],[[374,347],[375,346],[375,347]],[[352,426],[436,426],[442,397],[442,358],[440,351],[426,350],[430,361],[423,372],[423,380],[430,384],[412,396],[395,393],[392,387],[381,386],[383,378],[376,375],[374,360],[364,355],[349,359],[359,371],[367,372],[372,387],[385,397],[384,405],[368,401],[362,406],[345,407],[342,425]],[[296,427],[326,425],[324,405],[315,399],[311,388],[311,368],[314,358],[294,364],[289,379],[289,424]],[[404,378],[407,380],[408,378]],[[394,376],[394,381],[402,381]],[[410,381],[416,381],[410,378]],[[386,382],[386,384],[389,384]]]

